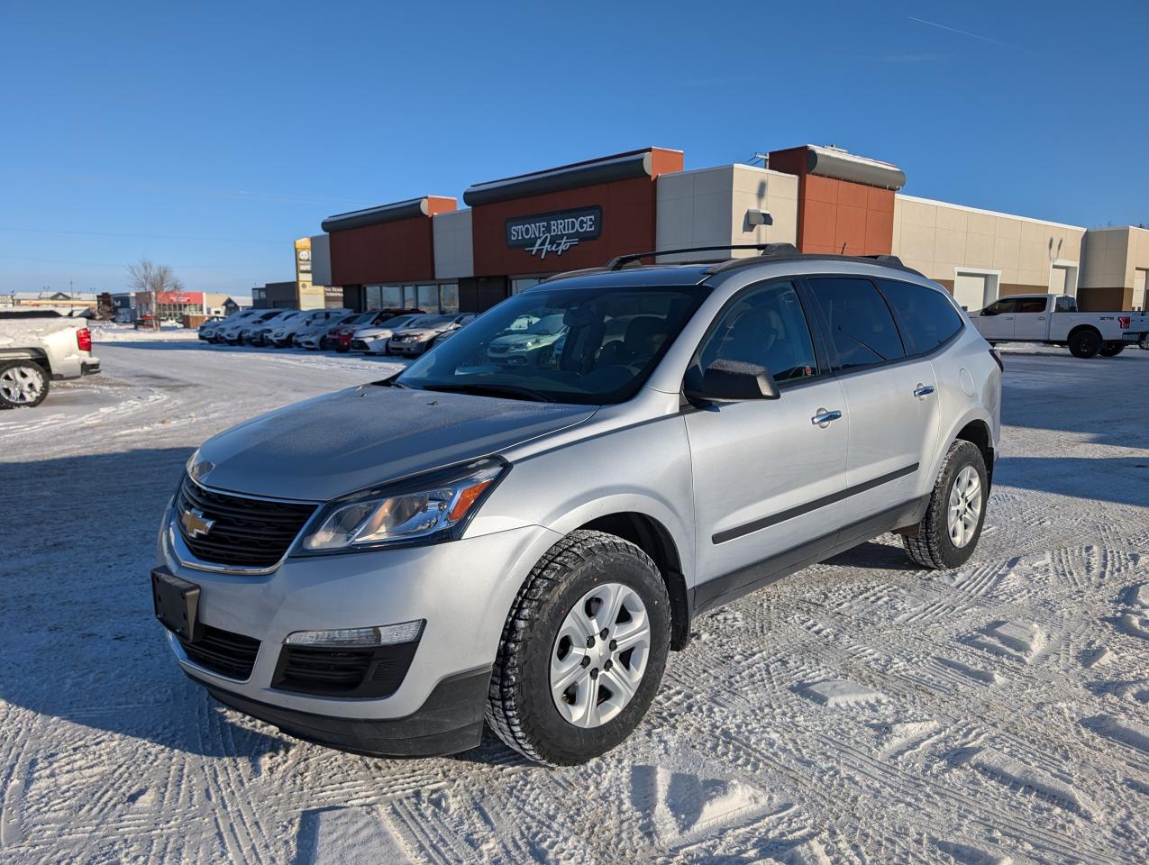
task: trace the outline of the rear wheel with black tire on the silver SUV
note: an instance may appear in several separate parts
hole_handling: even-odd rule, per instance
[[[966,472],[966,470],[970,472]],[[971,474],[972,473],[972,474]],[[962,495],[962,478],[969,480],[976,477],[978,481],[977,513],[964,510],[961,530],[949,522],[950,502],[958,485],[958,497]],[[967,488],[967,487],[966,487]],[[949,447],[938,482],[930,494],[930,507],[917,525],[916,534],[902,535],[905,553],[923,567],[935,571],[949,570],[965,564],[981,538],[981,526],[986,520],[986,502],[989,499],[989,485],[986,477],[986,461],[978,446],[970,441],[955,441]],[[972,503],[971,503],[972,504]],[[970,526],[970,516],[973,525]],[[955,535],[957,531],[957,535]],[[963,536],[964,535],[964,536]]]

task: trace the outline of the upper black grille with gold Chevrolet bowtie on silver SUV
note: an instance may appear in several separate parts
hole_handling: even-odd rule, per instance
[[[207,534],[188,535],[183,516],[190,509],[213,522]],[[185,474],[179,487],[176,525],[192,555],[203,562],[270,567],[284,557],[314,512],[314,504],[209,492]]]

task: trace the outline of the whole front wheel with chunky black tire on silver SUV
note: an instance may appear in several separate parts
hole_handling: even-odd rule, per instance
[[[610,633],[607,640],[599,632],[577,644],[566,636],[585,633],[572,630],[571,621],[594,627],[591,610],[602,609],[595,605],[596,595],[620,597],[619,613],[608,626],[610,633],[625,635],[619,639],[634,639],[642,624],[648,625],[645,648],[615,651]],[[639,605],[645,617],[624,612],[627,605]],[[604,621],[600,613],[597,624]],[[612,534],[572,532],[534,566],[507,616],[491,675],[487,724],[530,759],[564,766],[585,763],[634,732],[662,682],[669,648],[670,597],[650,557]],[[576,657],[583,659],[576,662]],[[564,662],[566,672],[556,673],[556,665]],[[632,678],[635,671],[637,679]],[[552,696],[553,675],[578,680]],[[619,700],[625,696],[622,688],[611,693],[610,686],[617,688],[620,675],[627,677],[625,682],[632,688],[629,701]],[[581,720],[570,719],[580,712],[585,712]]]

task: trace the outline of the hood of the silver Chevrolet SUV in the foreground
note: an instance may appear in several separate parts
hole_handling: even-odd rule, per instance
[[[210,487],[327,501],[587,420],[593,406],[363,385],[287,406],[209,439]]]

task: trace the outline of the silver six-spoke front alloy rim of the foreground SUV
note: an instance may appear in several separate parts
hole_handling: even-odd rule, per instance
[[[620,582],[587,592],[566,613],[550,650],[550,696],[576,727],[601,727],[634,697],[650,654],[639,594]]]

